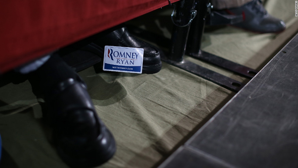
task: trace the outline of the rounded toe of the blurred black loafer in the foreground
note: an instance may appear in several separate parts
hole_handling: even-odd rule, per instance
[[[71,167],[99,166],[116,151],[111,132],[90,110],[74,110],[64,124],[54,131],[54,141],[61,158]]]

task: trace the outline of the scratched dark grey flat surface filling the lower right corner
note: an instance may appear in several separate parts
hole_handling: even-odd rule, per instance
[[[160,168],[298,167],[297,45],[296,35]]]

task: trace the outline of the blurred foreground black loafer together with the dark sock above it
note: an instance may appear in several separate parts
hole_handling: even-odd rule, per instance
[[[52,56],[29,74],[29,81],[44,97],[54,144],[65,163],[94,167],[113,156],[113,135],[97,116],[85,83],[61,58]]]

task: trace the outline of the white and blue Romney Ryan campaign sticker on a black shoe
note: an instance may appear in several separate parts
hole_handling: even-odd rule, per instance
[[[105,46],[104,71],[142,73],[143,48]]]

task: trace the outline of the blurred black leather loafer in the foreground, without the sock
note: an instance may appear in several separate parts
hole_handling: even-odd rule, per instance
[[[85,85],[70,78],[60,82],[51,97],[54,143],[71,167],[94,167],[116,151],[115,140],[97,116]]]

